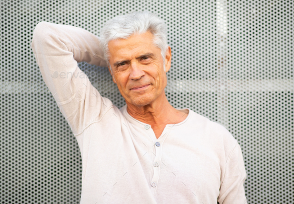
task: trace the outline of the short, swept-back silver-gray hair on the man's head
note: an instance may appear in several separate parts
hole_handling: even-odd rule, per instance
[[[112,67],[109,63],[110,52],[108,43],[116,39],[128,39],[133,34],[143,34],[150,31],[153,34],[153,45],[161,50],[163,59],[163,68],[165,71],[165,52],[167,45],[167,27],[162,19],[156,14],[148,12],[147,10],[131,13],[126,15],[116,16],[109,21],[101,29],[101,46],[103,46],[104,57],[107,65]]]

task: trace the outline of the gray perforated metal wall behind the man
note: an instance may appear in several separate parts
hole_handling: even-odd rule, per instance
[[[145,9],[168,26],[169,102],[238,139],[248,204],[294,203],[293,0],[1,0],[0,6],[2,204],[80,200],[81,156],[30,48],[36,24],[99,35],[108,19]],[[108,69],[84,64],[83,71],[95,71],[89,78],[101,95],[122,107]]]

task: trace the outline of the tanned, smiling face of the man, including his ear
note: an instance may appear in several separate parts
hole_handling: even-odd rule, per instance
[[[146,32],[108,43],[113,81],[127,104],[145,106],[164,92],[171,51],[168,47],[163,62],[160,49],[153,45],[152,40],[152,33]]]

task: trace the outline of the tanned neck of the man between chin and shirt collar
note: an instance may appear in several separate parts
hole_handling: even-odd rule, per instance
[[[138,107],[129,103],[127,105],[127,111],[133,118],[151,127],[173,124],[172,120],[178,112],[168,103],[164,91],[155,101],[146,106]]]

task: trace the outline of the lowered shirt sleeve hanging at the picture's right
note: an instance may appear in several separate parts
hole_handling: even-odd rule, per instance
[[[241,147],[236,142],[235,147],[230,153],[227,162],[224,177],[221,181],[219,204],[245,204],[244,182],[247,174],[242,156]]]

